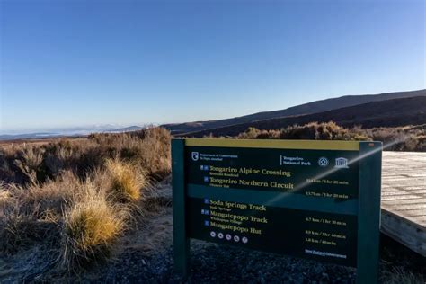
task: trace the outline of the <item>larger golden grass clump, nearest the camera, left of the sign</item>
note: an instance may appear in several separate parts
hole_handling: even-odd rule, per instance
[[[64,215],[62,265],[75,271],[106,260],[126,228],[126,216],[126,207],[109,203],[102,191],[87,183],[84,200]]]

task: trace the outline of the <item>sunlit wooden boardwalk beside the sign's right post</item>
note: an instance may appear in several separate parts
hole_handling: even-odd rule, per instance
[[[426,256],[426,153],[383,152],[381,231]]]

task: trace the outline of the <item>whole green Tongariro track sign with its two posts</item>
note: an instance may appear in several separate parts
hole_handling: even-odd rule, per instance
[[[380,167],[377,142],[174,139],[176,269],[186,273],[195,238],[358,267],[359,281],[375,281]]]

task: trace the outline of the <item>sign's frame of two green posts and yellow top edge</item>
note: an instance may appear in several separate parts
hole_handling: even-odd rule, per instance
[[[187,234],[185,183],[186,146],[232,146],[300,150],[358,150],[359,206],[357,283],[377,283],[380,237],[382,143],[336,140],[173,138],[173,261],[174,270],[186,279],[190,268],[190,237]]]

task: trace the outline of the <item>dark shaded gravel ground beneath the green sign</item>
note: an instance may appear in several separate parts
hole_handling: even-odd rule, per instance
[[[194,241],[191,273],[183,281],[173,274],[173,248],[146,257],[123,253],[104,268],[99,282],[115,283],[354,283],[355,270],[335,265]],[[92,279],[93,280],[93,279]]]

